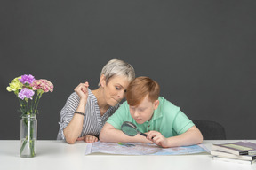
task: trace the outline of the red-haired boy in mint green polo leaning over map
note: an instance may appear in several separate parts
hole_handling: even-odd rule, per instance
[[[171,102],[159,97],[160,88],[148,77],[138,77],[127,88],[126,99],[100,132],[101,142],[156,143],[164,148],[203,142],[194,123]],[[120,129],[131,121],[142,135],[128,136]]]

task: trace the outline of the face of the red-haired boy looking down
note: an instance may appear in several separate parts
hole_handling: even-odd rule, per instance
[[[159,100],[151,102],[148,100],[148,95],[144,97],[142,102],[137,106],[129,106],[132,118],[139,124],[151,120],[154,111],[159,105]]]

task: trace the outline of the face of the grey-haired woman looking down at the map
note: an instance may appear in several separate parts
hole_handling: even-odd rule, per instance
[[[115,106],[125,97],[126,89],[130,81],[125,76],[114,76],[106,83],[102,79],[101,86],[104,89],[104,97],[108,105]]]

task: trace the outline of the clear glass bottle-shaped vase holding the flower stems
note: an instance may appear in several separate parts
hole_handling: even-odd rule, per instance
[[[20,120],[20,157],[36,156],[37,120],[36,115],[25,115]]]

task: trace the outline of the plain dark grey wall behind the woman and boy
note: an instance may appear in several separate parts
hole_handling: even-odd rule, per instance
[[[255,139],[255,1],[0,1],[0,139],[20,138],[24,73],[54,84],[39,104],[38,139],[56,139],[79,82],[96,89],[109,59],[159,82],[190,119],[215,120],[228,139]]]

